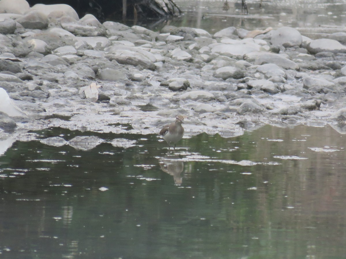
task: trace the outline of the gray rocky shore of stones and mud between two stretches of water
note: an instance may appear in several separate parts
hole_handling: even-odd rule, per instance
[[[345,133],[346,32],[316,40],[290,27],[155,32],[79,19],[62,4],[1,0],[0,33],[2,140],[49,127],[158,133],[176,114],[185,137],[264,124]],[[84,92],[92,83],[101,86],[96,99]]]

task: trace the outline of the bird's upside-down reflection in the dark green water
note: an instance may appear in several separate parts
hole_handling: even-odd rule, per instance
[[[159,162],[162,171],[173,175],[175,185],[181,185],[183,182],[183,177],[180,174],[184,170],[184,163],[179,159],[177,155],[165,155],[165,157],[160,158]]]

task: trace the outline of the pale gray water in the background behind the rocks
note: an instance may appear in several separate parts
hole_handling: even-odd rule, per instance
[[[241,1],[229,1],[230,9],[222,10],[224,0],[175,0],[184,12],[165,23],[140,24],[153,30],[164,25],[201,28],[210,33],[234,26],[247,30],[274,29],[289,26],[312,39],[325,38],[334,32],[345,32],[346,1],[343,0],[279,0],[262,2],[246,0],[248,15],[241,10]],[[133,21],[128,22],[133,25]]]

